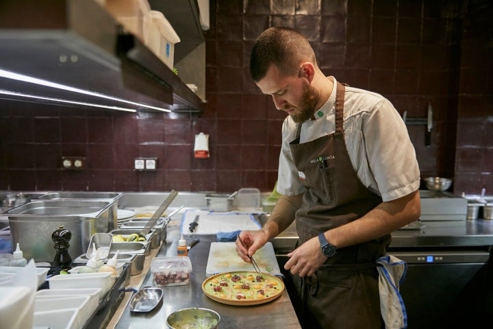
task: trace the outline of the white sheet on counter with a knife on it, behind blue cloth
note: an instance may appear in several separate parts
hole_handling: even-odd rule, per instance
[[[190,234],[188,228],[199,215],[199,225],[195,234],[216,234],[236,230],[260,230],[262,226],[250,213],[240,212],[211,212],[208,210],[187,210],[181,222],[181,233]]]

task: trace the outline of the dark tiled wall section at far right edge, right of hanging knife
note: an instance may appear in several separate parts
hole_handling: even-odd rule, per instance
[[[493,194],[493,4],[471,1],[464,19],[455,184]]]

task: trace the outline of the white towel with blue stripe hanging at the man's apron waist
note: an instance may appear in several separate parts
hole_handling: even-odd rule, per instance
[[[380,311],[385,329],[407,328],[407,313],[399,286],[407,271],[407,264],[399,258],[386,255],[377,260],[379,271]]]

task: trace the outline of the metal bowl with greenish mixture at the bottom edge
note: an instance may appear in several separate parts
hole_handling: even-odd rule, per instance
[[[203,328],[216,329],[220,322],[220,315],[209,308],[182,308],[166,319],[171,329]]]

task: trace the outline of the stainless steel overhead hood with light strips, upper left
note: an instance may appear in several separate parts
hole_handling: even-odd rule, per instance
[[[203,101],[96,1],[64,5],[66,29],[0,29],[0,99],[201,112]]]

